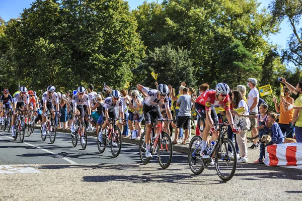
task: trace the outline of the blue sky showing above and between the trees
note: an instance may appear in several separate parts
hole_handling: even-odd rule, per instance
[[[0,16],[5,20],[9,21],[11,18],[17,18],[20,13],[23,12],[24,8],[29,8],[33,0],[0,0]],[[131,9],[135,9],[137,6],[141,5],[144,0],[129,0],[129,6]],[[154,2],[154,0],[148,0],[147,2]],[[159,0],[158,2],[162,2]],[[267,7],[271,0],[258,0],[261,3],[260,8]],[[300,26],[302,27],[302,23]],[[285,20],[281,24],[281,30],[277,35],[271,35],[269,40],[274,44],[278,44],[281,48],[286,47],[286,39],[292,33],[292,30]]]

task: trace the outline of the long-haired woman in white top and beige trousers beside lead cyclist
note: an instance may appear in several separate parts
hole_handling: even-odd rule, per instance
[[[241,154],[241,157],[238,159],[239,163],[246,163],[248,162],[248,149],[247,149],[247,142],[246,142],[246,134],[248,129],[250,128],[250,120],[245,117],[246,115],[249,115],[249,108],[245,100],[243,99],[243,95],[239,90],[233,91],[232,94],[233,99],[233,108],[239,109],[243,108],[245,109],[245,112],[243,116],[236,115],[235,116],[235,124],[241,123],[241,131],[237,132],[236,139],[239,147],[239,152]],[[235,154],[234,154],[235,155]],[[234,156],[235,157],[235,156]]]

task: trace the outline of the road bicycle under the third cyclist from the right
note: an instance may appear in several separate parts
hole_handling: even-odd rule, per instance
[[[121,151],[122,147],[122,134],[121,130],[116,126],[116,121],[124,120],[121,118],[108,118],[109,125],[112,125],[111,129],[104,129],[98,134],[98,149],[100,153],[103,153],[106,149],[106,146],[110,144],[111,154],[113,157],[117,157]],[[101,141],[99,141],[99,135],[102,135]]]

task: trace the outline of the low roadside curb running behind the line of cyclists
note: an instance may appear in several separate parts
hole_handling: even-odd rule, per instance
[[[41,128],[40,126],[35,126],[35,129],[40,130],[40,128]],[[60,133],[70,133],[70,131],[67,131],[67,130],[64,130],[64,129],[56,129],[56,131],[60,132]],[[88,134],[88,136],[91,136],[91,137],[97,137],[96,132],[87,131],[87,134]],[[127,137],[122,137],[122,142],[139,145],[139,140],[138,139],[132,140],[132,139],[129,139]],[[180,152],[180,153],[185,153],[185,154],[188,153],[189,143],[187,145],[172,145],[172,146],[173,146],[173,151]]]

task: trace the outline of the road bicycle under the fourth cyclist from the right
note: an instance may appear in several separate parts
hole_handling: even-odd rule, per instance
[[[76,147],[78,144],[78,140],[81,141],[82,149],[86,149],[87,146],[87,128],[84,122],[84,117],[91,115],[75,115],[75,123],[74,123],[74,133],[71,132],[71,142],[72,146]],[[82,143],[82,139],[84,139],[84,143]]]

